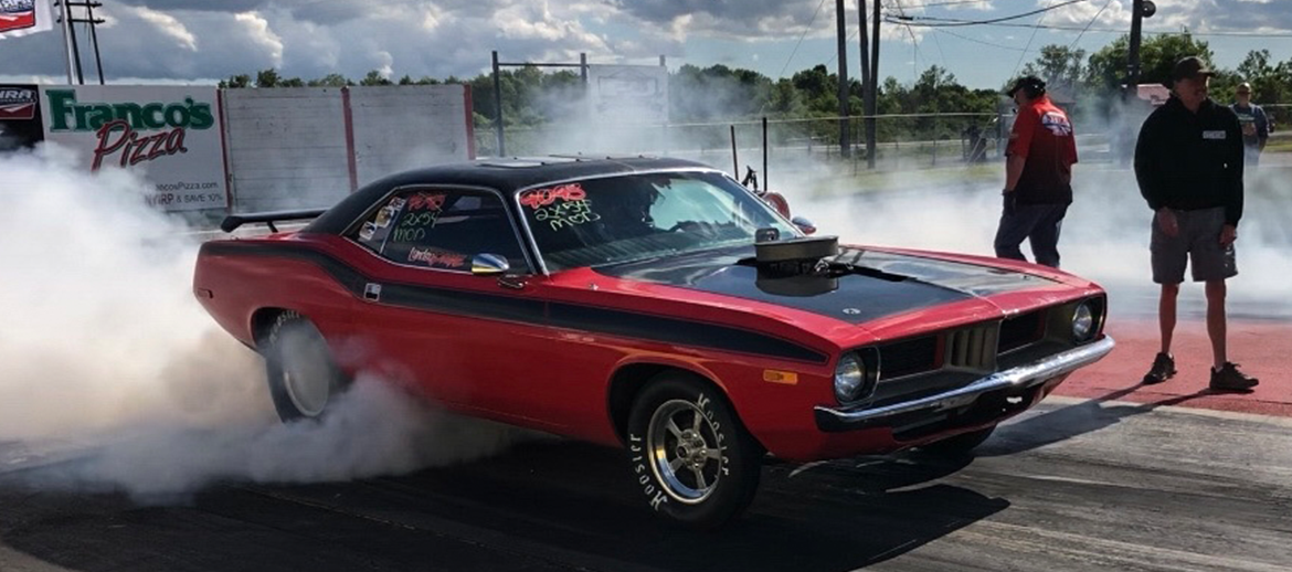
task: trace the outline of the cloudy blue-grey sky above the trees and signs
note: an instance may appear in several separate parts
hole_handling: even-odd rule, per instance
[[[1059,1],[901,0],[901,8],[908,15],[981,19]],[[1045,13],[1043,23],[1124,30],[1129,27],[1129,4],[1087,0]],[[1145,21],[1145,30],[1287,31],[1292,30],[1287,4],[1162,0],[1158,15]],[[855,27],[855,0],[845,6],[848,26]],[[895,0],[889,9],[901,12]],[[717,52],[717,44],[792,45],[800,37],[819,44],[835,35],[835,3],[820,0],[118,0],[96,14],[110,21],[99,28],[99,44],[105,72],[115,81],[227,77],[269,67],[302,79],[328,74],[358,79],[370,70],[394,76],[472,77],[487,71],[491,50],[508,61],[572,61],[587,53],[596,62],[630,62],[664,54],[708,66],[749,62],[755,53],[752,46]],[[1013,23],[1037,19],[1032,15]],[[956,30],[982,37],[1006,28]],[[929,34],[921,27],[882,27],[884,40],[910,44],[913,35],[921,49]],[[1261,46],[1249,41],[1233,49]],[[779,70],[770,61],[776,58],[766,57],[773,52],[761,46],[757,52],[773,68],[765,72]],[[5,75],[16,77],[61,76],[61,54],[56,34],[6,40],[0,46]],[[1286,57],[1276,54],[1279,61]]]

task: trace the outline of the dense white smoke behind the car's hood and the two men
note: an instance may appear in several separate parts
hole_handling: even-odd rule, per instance
[[[789,195],[795,214],[809,217],[820,234],[837,234],[841,241],[995,256],[1004,164],[999,164],[995,181],[955,181],[955,169],[963,168],[890,173],[879,179],[881,190],[833,189],[826,192],[828,198],[802,192],[822,185],[813,179],[791,179],[784,186],[778,183],[776,190]],[[1239,275],[1229,280],[1231,316],[1292,316],[1286,280],[1280,278],[1284,269],[1292,267],[1292,232],[1283,223],[1292,216],[1292,190],[1280,183],[1288,174],[1292,165],[1276,164],[1247,174],[1236,243]],[[773,172],[771,177],[778,176]],[[835,179],[826,185],[841,183]],[[1149,260],[1152,213],[1140,195],[1134,173],[1118,163],[1094,159],[1075,167],[1072,185],[1074,203],[1059,239],[1063,270],[1106,288],[1114,319],[1155,316],[1158,287]],[[1026,243],[1023,253],[1031,257]],[[1203,288],[1189,275],[1185,279],[1181,315],[1199,318],[1205,311]]]

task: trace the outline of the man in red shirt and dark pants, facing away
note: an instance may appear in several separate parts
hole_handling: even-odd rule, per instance
[[[1072,203],[1076,139],[1072,121],[1045,94],[1045,81],[1021,77],[1006,92],[1018,103],[1018,119],[1005,154],[1005,191],[996,256],[1026,261],[1018,249],[1032,247],[1036,263],[1058,267],[1058,234]]]

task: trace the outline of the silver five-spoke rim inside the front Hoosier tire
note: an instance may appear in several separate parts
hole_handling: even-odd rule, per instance
[[[708,498],[722,479],[722,439],[695,403],[673,399],[655,409],[646,433],[655,476],[683,504]]]

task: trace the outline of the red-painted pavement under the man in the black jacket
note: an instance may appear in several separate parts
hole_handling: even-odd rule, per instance
[[[1141,385],[1160,346],[1156,319],[1111,319],[1105,331],[1118,347],[1072,373],[1056,395],[1292,417],[1292,324],[1230,320],[1229,360],[1261,381],[1249,394],[1208,389],[1212,351],[1205,323],[1176,324],[1171,352],[1178,373],[1158,385]]]

